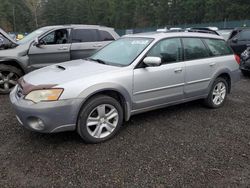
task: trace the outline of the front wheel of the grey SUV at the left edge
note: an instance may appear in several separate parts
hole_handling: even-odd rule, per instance
[[[22,71],[11,65],[0,64],[0,94],[8,94],[22,77]]]

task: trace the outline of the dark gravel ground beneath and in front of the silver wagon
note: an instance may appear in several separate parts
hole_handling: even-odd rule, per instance
[[[199,101],[132,117],[112,140],[32,133],[0,96],[0,187],[250,187],[250,78],[218,110]]]

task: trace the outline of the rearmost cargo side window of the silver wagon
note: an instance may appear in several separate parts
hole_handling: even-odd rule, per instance
[[[232,54],[232,50],[227,46],[226,42],[223,40],[205,39],[205,42],[214,56]]]

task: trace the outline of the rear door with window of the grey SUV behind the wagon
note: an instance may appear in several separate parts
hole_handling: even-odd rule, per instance
[[[87,58],[103,46],[98,29],[73,29],[71,59]]]

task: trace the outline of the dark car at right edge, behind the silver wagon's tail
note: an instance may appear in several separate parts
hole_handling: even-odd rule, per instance
[[[234,29],[227,42],[233,51],[240,56],[250,44],[250,28]]]

